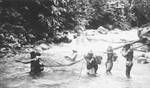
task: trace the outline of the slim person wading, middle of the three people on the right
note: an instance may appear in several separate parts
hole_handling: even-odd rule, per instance
[[[116,54],[113,52],[113,49],[111,46],[108,47],[107,49],[107,61],[105,63],[106,65],[106,74],[109,75],[111,74],[111,70],[113,67],[113,61],[116,61],[117,56]]]

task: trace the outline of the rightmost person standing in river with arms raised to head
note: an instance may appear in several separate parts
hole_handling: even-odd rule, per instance
[[[122,55],[126,58],[126,77],[130,78],[131,68],[133,66],[133,49],[130,44],[123,47]]]

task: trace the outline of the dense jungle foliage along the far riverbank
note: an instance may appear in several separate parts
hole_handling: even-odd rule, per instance
[[[0,47],[22,46],[80,27],[130,30],[150,21],[149,0],[0,0]]]

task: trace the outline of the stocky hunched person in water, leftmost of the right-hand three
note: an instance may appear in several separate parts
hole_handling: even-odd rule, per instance
[[[87,62],[87,74],[96,76],[98,64],[96,63],[96,59],[94,58],[92,51],[88,52],[88,54],[85,56],[85,60]]]

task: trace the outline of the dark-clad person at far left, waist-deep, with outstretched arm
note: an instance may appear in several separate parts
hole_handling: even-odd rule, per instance
[[[32,51],[30,53],[31,59],[30,60],[26,60],[26,61],[18,61],[17,62],[22,62],[24,64],[28,64],[30,63],[30,75],[35,77],[35,76],[39,76],[41,74],[41,72],[44,70],[44,65],[40,63],[41,58],[39,58],[38,56],[41,56],[40,53],[36,53],[35,51]]]

